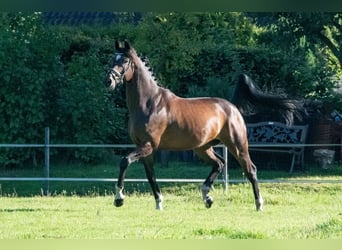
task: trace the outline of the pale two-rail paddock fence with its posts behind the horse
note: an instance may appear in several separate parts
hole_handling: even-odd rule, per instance
[[[336,147],[341,144],[291,144],[293,146],[301,147]],[[113,178],[58,178],[50,177],[50,148],[135,148],[134,144],[50,144],[50,130],[45,128],[45,143],[44,144],[0,144],[0,148],[44,148],[44,177],[0,177],[0,181],[43,181],[45,182],[44,192],[49,193],[51,181],[63,181],[63,182],[116,182],[117,179]],[[289,147],[288,144],[253,144],[250,147]],[[228,187],[228,152],[225,145],[220,144],[215,148],[222,148],[222,157],[225,160],[225,166],[222,173],[222,179],[218,179],[217,182],[222,183],[224,190]],[[125,179],[126,182],[147,182],[147,179]],[[203,182],[203,179],[157,179],[158,182]],[[246,179],[229,180],[230,183],[243,183]],[[260,183],[342,183],[342,180],[259,180]]]

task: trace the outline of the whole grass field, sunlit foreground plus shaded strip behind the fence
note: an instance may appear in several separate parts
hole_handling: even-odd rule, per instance
[[[83,167],[83,166],[79,166]],[[116,177],[112,166],[80,171],[56,167],[52,177]],[[159,178],[205,178],[209,168],[176,165],[157,170]],[[40,172],[39,170],[38,172]],[[183,171],[183,172],[182,172]],[[19,172],[21,172],[19,174]],[[4,173],[4,172],[3,172]],[[32,174],[33,173],[33,174]],[[76,176],[78,173],[80,176]],[[177,173],[177,175],[175,174]],[[196,176],[194,176],[196,173]],[[6,171],[8,175],[27,175]],[[39,175],[30,171],[31,176]],[[142,167],[131,166],[127,178],[143,178]],[[241,178],[238,169],[230,178]],[[259,171],[259,179],[341,180],[340,167],[327,171]],[[162,183],[164,211],[156,211],[146,183],[127,183],[125,205],[113,206],[113,183],[51,183],[51,195],[41,196],[42,183],[0,183],[1,239],[340,239],[342,184],[261,183],[263,212],[256,212],[249,183],[211,191],[215,202],[206,209],[199,183]]]

